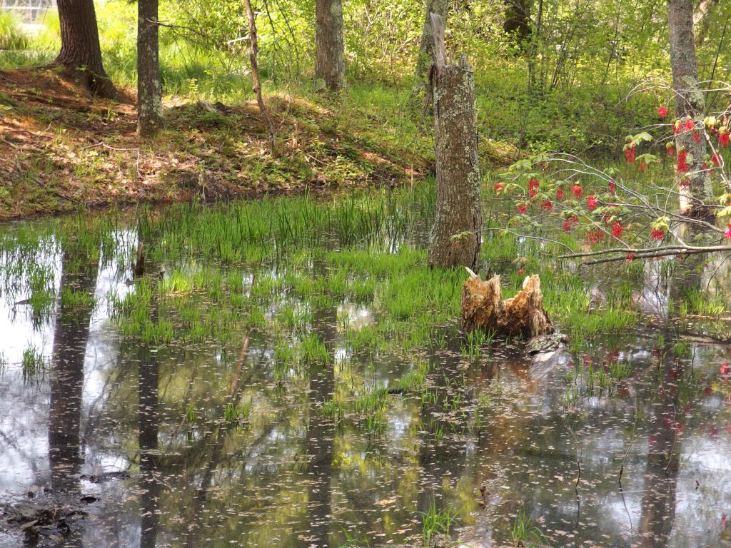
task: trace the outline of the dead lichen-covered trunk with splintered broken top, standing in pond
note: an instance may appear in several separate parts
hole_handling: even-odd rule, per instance
[[[442,18],[435,15],[434,23],[436,220],[429,240],[429,266],[474,268],[482,241],[474,72],[465,58],[445,64]]]

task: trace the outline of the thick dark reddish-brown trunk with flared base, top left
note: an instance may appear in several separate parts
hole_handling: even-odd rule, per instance
[[[58,20],[61,53],[56,63],[68,69],[83,69],[85,84],[92,94],[114,99],[117,90],[102,65],[94,0],[58,0]]]

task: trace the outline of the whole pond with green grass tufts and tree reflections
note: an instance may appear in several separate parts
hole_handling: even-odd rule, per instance
[[[0,227],[0,547],[731,547],[724,259],[486,237],[569,335],[537,362],[460,332],[433,201]]]

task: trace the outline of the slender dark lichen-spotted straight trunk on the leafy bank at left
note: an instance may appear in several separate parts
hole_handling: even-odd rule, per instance
[[[158,0],[137,0],[137,133],[153,137],[162,128]]]

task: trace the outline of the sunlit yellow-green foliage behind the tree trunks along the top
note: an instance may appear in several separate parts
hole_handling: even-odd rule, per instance
[[[667,6],[633,0],[531,0],[534,33],[505,34],[504,0],[452,2],[448,41],[476,69],[483,137],[532,151],[617,154],[632,128],[656,121],[670,96],[633,93],[646,80],[670,81]],[[539,8],[542,10],[539,13]],[[107,72],[135,84],[136,6],[126,0],[97,4]],[[300,91],[314,66],[314,2],[258,0],[260,67],[268,88]],[[346,0],[344,23],[349,82],[402,110],[412,86],[423,21],[414,0]],[[540,17],[539,17],[540,15]],[[719,2],[699,26],[701,80],[724,80],[731,71],[731,4]],[[540,28],[537,21],[540,19]],[[232,102],[249,97],[246,20],[236,0],[163,1],[161,69],[164,93]],[[31,53],[0,52],[1,64],[30,65],[58,51],[58,18],[30,40]],[[0,42],[17,46],[15,21],[0,18]],[[532,69],[532,71],[530,70]],[[532,72],[533,77],[529,77]],[[395,93],[382,93],[383,91]],[[401,102],[393,104],[394,101]],[[713,100],[713,98],[711,98]],[[713,105],[711,105],[713,107]]]

